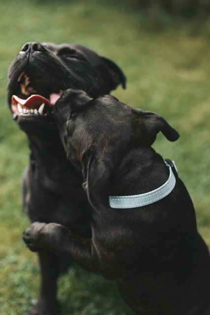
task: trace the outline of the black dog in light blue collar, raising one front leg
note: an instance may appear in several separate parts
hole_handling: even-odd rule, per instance
[[[56,223],[33,223],[30,250],[48,249],[116,280],[141,315],[209,315],[210,255],[196,228],[190,196],[173,162],[152,148],[160,116],[120,103],[64,92],[54,109],[67,157],[81,170],[92,205],[90,239]]]

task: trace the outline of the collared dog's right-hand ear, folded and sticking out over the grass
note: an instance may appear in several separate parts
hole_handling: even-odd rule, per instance
[[[141,110],[135,110],[135,113],[138,114],[137,121],[141,126],[141,135],[142,125],[143,128],[145,128],[143,132],[145,136],[144,142],[147,144],[152,145],[159,131],[161,131],[169,141],[176,141],[179,138],[179,133],[174,128],[172,128],[161,116],[152,112],[144,112]]]

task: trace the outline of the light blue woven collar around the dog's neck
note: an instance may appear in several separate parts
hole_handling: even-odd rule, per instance
[[[169,178],[165,184],[152,191],[132,196],[109,196],[111,208],[127,209],[138,208],[150,205],[166,197],[175,187],[177,177],[177,167],[174,161],[165,159],[164,162],[169,168]]]

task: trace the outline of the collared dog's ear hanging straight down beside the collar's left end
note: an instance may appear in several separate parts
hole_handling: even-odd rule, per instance
[[[83,175],[86,179],[83,186],[91,206],[96,211],[106,209],[111,174],[109,162],[94,157],[89,151],[83,155],[82,165]]]

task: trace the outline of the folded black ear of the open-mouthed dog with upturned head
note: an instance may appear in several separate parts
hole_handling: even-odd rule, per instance
[[[116,63],[105,57],[101,57],[101,60],[105,63],[106,67],[110,71],[113,80],[112,89],[117,88],[119,84],[121,84],[122,88],[125,89],[126,77],[124,76],[124,73],[122,72],[120,67]]]

